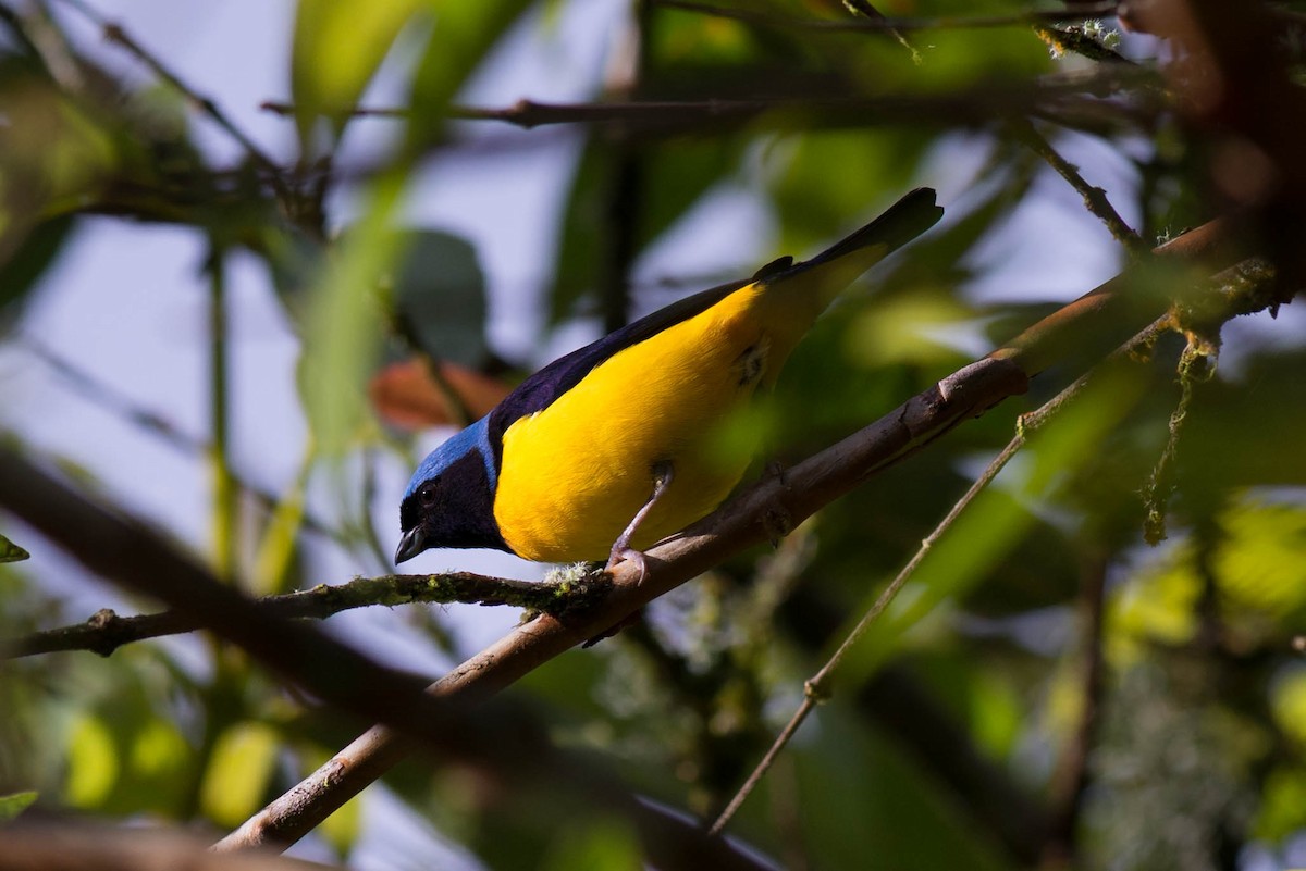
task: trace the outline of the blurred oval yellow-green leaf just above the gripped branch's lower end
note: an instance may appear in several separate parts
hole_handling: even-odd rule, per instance
[[[277,764],[277,731],[263,722],[238,722],[213,747],[200,786],[200,807],[219,825],[234,827],[263,805]]]

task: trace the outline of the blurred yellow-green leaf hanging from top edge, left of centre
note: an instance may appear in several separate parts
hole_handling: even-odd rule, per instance
[[[290,94],[302,153],[326,117],[338,134],[421,0],[299,0],[290,53]]]

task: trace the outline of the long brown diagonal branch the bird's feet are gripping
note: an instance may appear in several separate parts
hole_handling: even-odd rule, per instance
[[[1168,243],[1158,253],[1213,257],[1222,253],[1228,222],[1212,222]],[[440,699],[482,700],[549,660],[609,632],[653,598],[718,565],[726,557],[776,537],[876,471],[916,452],[957,424],[982,415],[1027,389],[1028,378],[1053,362],[1101,359],[1155,321],[1169,300],[1138,293],[1124,274],[1064,306],[1003,348],[948,376],[879,421],[768,477],[684,532],[648,552],[648,575],[636,583],[628,563],[614,571],[614,588],[592,612],[559,621],[543,615],[517,627],[428,688]],[[230,833],[218,850],[285,844],[303,837],[407,752],[385,726],[374,726],[298,786]]]

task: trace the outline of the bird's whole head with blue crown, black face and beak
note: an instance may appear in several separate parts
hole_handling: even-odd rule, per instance
[[[417,467],[400,503],[404,537],[394,562],[427,548],[508,546],[494,519],[498,484],[487,420],[482,419],[431,451]]]

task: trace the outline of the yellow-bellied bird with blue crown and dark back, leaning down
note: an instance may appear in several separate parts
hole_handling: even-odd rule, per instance
[[[716,510],[752,455],[721,428],[769,389],[816,317],[943,216],[918,188],[804,262],[687,296],[521,382],[413,472],[394,562],[490,548],[547,563],[632,561]],[[729,454],[729,455],[722,455]]]

